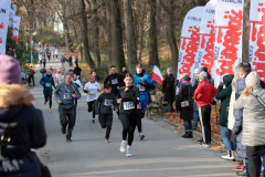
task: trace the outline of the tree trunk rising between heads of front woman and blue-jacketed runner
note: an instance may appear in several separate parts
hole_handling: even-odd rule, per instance
[[[131,0],[124,0],[124,20],[126,29],[126,41],[127,41],[127,58],[129,63],[129,72],[135,71],[137,64],[137,49],[136,49],[136,38],[135,38],[135,25],[131,9]]]

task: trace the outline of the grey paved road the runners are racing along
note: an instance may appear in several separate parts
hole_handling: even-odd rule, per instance
[[[53,50],[53,48],[51,48]],[[62,52],[60,53],[61,56]],[[55,63],[56,69],[60,63]],[[146,139],[140,142],[135,133],[132,157],[119,152],[121,124],[114,114],[110,143],[104,140],[105,129],[98,121],[92,124],[92,114],[87,113],[85,95],[78,101],[77,119],[73,131],[73,142],[66,143],[61,133],[57,105],[53,102],[53,112],[43,105],[40,69],[36,66],[36,86],[31,91],[36,107],[41,108],[45,119],[47,144],[38,150],[42,160],[50,167],[54,177],[113,176],[113,177],[232,177],[232,167],[236,164],[222,160],[213,152],[199,147],[192,140],[162,127],[159,123],[144,119]]]

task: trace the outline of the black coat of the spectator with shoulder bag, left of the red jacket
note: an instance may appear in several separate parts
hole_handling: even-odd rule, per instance
[[[181,83],[179,86],[179,96],[177,97],[178,111],[180,118],[184,121],[193,121],[193,90],[190,83]],[[190,101],[189,107],[181,107],[181,102]]]

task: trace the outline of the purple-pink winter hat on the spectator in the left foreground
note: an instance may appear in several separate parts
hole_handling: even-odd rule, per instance
[[[18,60],[9,55],[0,55],[0,84],[20,84],[21,67]]]

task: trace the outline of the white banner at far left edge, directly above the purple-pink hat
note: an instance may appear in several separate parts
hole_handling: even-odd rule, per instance
[[[6,54],[11,0],[0,0],[0,54]]]

